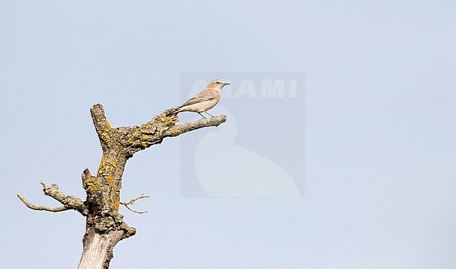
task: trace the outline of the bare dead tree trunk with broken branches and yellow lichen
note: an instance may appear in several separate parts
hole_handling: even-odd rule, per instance
[[[82,186],[87,193],[86,200],[66,195],[59,191],[56,184],[47,186],[43,181],[41,185],[43,185],[44,194],[58,200],[62,204],[61,207],[33,205],[18,194],[20,200],[34,210],[61,212],[74,209],[86,216],[86,233],[82,240],[83,252],[78,268],[109,268],[109,261],[114,256],[114,246],[120,240],[136,233],[135,228],[128,226],[123,221],[123,215],[119,213],[120,205],[128,207],[135,200],[147,198],[141,195],[140,198],[130,202],[120,200],[123,170],[127,160],[133,157],[133,154],[149,146],[160,144],[166,137],[177,137],[203,127],[217,127],[227,120],[227,116],[220,115],[176,125],[177,116],[168,116],[175,110],[176,107],[167,109],[141,126],[111,127],[103,106],[95,104],[90,112],[100,138],[103,155],[96,176],[90,174],[88,168],[83,170]]]

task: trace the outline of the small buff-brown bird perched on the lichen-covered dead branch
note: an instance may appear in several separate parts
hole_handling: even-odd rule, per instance
[[[203,118],[206,118],[201,114],[203,112],[213,117],[207,111],[212,109],[220,101],[220,97],[222,97],[222,88],[226,85],[230,85],[230,83],[222,81],[221,79],[210,81],[204,90],[201,90],[198,95],[190,98],[187,102],[182,104],[182,106],[179,106],[171,115],[190,111],[199,113]]]

